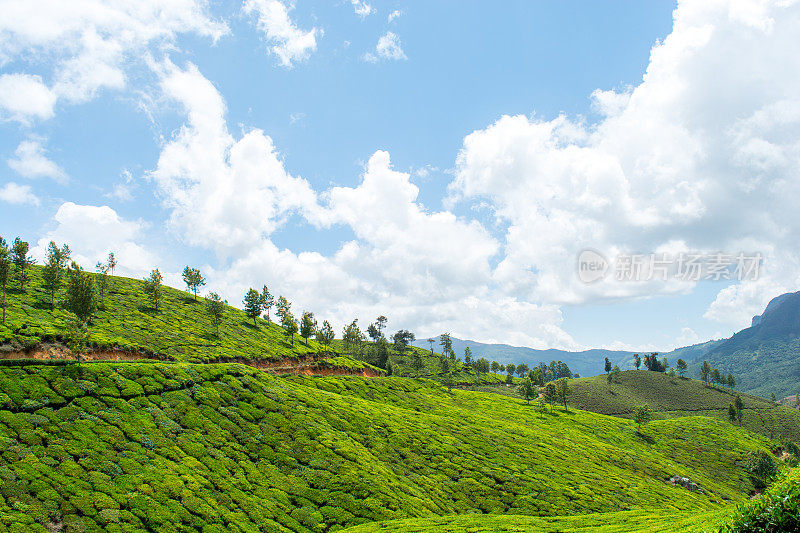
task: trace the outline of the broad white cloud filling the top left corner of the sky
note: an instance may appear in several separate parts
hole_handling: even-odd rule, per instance
[[[20,121],[51,117],[58,98],[83,102],[103,88],[124,87],[129,62],[150,47],[171,45],[180,33],[216,40],[228,31],[209,17],[203,0],[2,0],[0,12],[0,64],[45,57],[53,65],[50,88],[26,74],[0,79],[0,107]],[[21,101],[3,88],[12,82],[25,83],[32,97]]]

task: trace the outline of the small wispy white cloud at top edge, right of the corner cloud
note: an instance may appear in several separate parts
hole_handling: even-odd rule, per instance
[[[317,28],[301,30],[289,17],[287,7],[278,0],[245,0],[244,12],[258,16],[258,28],[269,41],[269,51],[284,67],[304,61],[317,49]]]

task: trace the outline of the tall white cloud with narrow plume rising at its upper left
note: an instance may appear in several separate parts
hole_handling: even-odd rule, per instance
[[[166,61],[155,68],[188,123],[163,147],[149,178],[186,242],[221,256],[242,253],[292,212],[311,217],[318,210],[314,191],[286,172],[269,136],[254,129],[234,139],[222,96],[197,67]]]

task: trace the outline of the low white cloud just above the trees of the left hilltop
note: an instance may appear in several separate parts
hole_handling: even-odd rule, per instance
[[[97,261],[104,261],[114,252],[122,275],[141,276],[157,264],[157,258],[137,241],[143,238],[146,224],[120,217],[108,206],[61,204],[53,217],[55,228],[47,232],[31,254],[43,259],[47,244],[68,244],[72,259],[93,270]]]

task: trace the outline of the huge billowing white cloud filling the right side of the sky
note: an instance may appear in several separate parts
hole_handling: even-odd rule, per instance
[[[593,93],[599,122],[505,116],[468,135],[450,201],[488,202],[507,224],[496,281],[531,301],[645,297],[692,287],[583,285],[578,253],[760,251],[762,277],[706,314],[731,328],[796,290],[798,28],[795,2],[680,2],[642,82]]]

